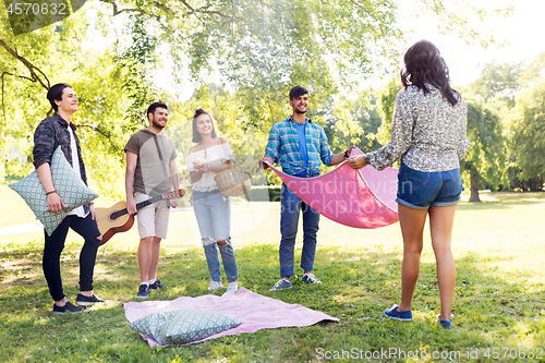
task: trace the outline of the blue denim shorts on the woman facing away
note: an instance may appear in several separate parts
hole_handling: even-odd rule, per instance
[[[414,209],[447,207],[460,203],[461,192],[460,169],[426,172],[413,170],[401,162],[396,198],[399,204]]]

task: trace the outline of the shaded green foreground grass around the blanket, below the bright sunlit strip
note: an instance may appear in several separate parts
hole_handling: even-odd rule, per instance
[[[62,262],[65,292],[72,299],[77,293],[77,244],[71,245]],[[296,264],[300,255],[298,249]],[[488,268],[489,257],[477,254],[457,259],[455,329],[444,331],[434,322],[440,308],[434,263],[421,266],[413,301],[414,320],[401,323],[383,315],[385,307],[399,302],[401,256],[398,253],[318,249],[315,273],[324,283],[304,285],[299,276],[293,279],[293,289],[270,292],[268,289],[279,278],[278,246],[254,245],[237,250],[241,286],[287,303],[319,310],[341,322],[261,330],[168,349],[149,349],[128,327],[122,303],[138,301],[134,298],[138,285],[134,253],[109,251],[99,254],[95,291],[109,303],[93,307],[90,314],[60,318],[51,314],[52,302],[41,275],[40,256],[37,249],[0,254],[3,263],[16,259],[23,271],[33,271],[17,276],[15,269],[2,270],[0,335],[5,347],[0,352],[2,362],[213,362],[220,359],[302,362],[318,361],[320,351],[354,353],[354,348],[361,351],[448,350],[460,354],[475,348],[484,354],[491,347],[535,349],[545,346],[543,283],[508,282],[513,276]],[[507,256],[505,263],[509,263]],[[158,273],[169,289],[153,292],[148,300],[209,293],[206,291],[209,275],[202,249],[164,253]],[[383,358],[374,361],[400,360]],[[469,360],[461,355],[456,361]],[[518,359],[508,356],[496,361]]]

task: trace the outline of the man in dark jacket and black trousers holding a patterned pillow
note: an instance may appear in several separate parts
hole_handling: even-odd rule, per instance
[[[72,168],[81,176],[82,181],[87,184],[85,166],[82,159],[80,140],[72,124],[72,116],[77,111],[77,97],[69,84],[59,83],[49,88],[47,99],[51,104],[55,113],[44,119],[34,133],[34,166],[38,170],[39,180],[47,194],[47,206],[49,211],[61,211],[65,206],[62,198],[55,190],[51,176],[51,157],[58,146],[64,154]],[[64,295],[62,289],[60,257],[64,249],[64,241],[69,228],[85,239],[80,253],[80,294],[72,304]],[[100,232],[96,223],[96,213],[93,202],[73,209],[57,229],[49,235],[45,234],[44,246],[44,275],[49,287],[49,293],[55,301],[53,314],[64,315],[66,313],[88,312],[90,306],[104,300],[97,298],[93,292],[93,274],[97,250],[100,245]]]

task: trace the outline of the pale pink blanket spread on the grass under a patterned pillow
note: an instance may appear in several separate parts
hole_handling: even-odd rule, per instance
[[[322,320],[339,322],[339,318],[322,312],[299,304],[288,304],[280,300],[263,297],[244,288],[240,288],[235,293],[223,293],[221,297],[206,294],[197,298],[183,297],[172,301],[129,302],[124,303],[123,306],[125,308],[125,317],[131,323],[161,310],[174,308],[206,310],[226,314],[243,322],[242,325],[234,329],[192,341],[192,343],[240,332],[255,332],[261,329],[302,327],[314,325]],[[153,338],[142,337],[150,347],[159,346]]]

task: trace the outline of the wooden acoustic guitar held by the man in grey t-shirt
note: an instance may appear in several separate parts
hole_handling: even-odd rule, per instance
[[[185,191],[179,189],[178,191],[168,192],[161,195],[157,195],[147,201],[136,204],[136,210],[144,208],[150,204],[162,199],[172,199],[179,196],[183,196]],[[100,245],[105,244],[110,240],[113,234],[119,232],[126,232],[134,225],[134,215],[130,215],[126,211],[126,202],[118,202],[109,208],[95,208],[97,213],[97,225],[98,230],[102,234],[102,241]]]

